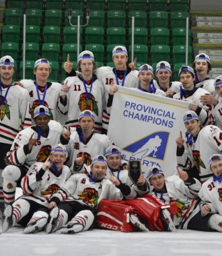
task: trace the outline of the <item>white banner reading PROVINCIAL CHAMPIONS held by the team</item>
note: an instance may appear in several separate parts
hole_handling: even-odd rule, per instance
[[[114,94],[108,135],[121,149],[124,160],[141,160],[147,177],[160,166],[165,177],[176,172],[176,138],[184,127],[188,102],[118,87]]]

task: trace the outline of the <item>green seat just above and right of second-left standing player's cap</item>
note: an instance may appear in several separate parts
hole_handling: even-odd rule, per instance
[[[48,61],[59,61],[59,53],[59,44],[50,42],[42,44],[42,58],[48,59]]]

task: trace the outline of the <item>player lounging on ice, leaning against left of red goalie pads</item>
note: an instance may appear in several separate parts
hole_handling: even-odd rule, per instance
[[[105,179],[107,160],[103,155],[92,159],[90,170],[85,174],[73,174],[65,185],[54,193],[48,205],[46,232],[77,233],[93,228],[98,204],[102,199],[133,199],[137,193],[116,177]],[[116,186],[115,186],[116,185]],[[66,201],[64,201],[66,200]],[[57,207],[58,205],[58,207]]]

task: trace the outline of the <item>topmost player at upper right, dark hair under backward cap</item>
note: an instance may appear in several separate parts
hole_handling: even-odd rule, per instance
[[[206,53],[196,55],[192,68],[195,72],[196,88],[203,88],[210,94],[215,95],[213,86],[213,79],[209,78],[209,71],[211,71],[211,59]]]

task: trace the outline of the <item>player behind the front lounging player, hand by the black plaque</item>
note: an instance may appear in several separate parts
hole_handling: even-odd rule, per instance
[[[122,168],[122,157],[120,149],[116,146],[109,146],[106,149],[105,156],[108,163],[108,172],[106,174],[106,179],[114,175],[122,183],[132,187],[137,191],[138,195],[144,195],[149,193],[149,184],[143,175],[140,175],[137,185],[133,184],[130,177],[128,177],[128,170]]]

